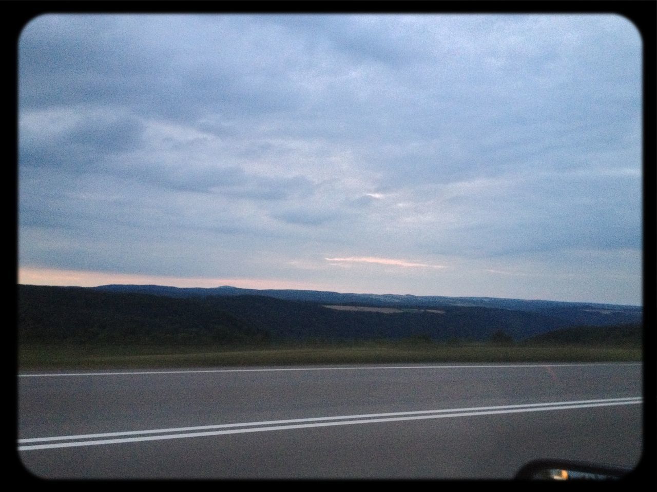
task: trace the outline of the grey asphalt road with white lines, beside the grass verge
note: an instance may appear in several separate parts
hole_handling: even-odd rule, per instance
[[[639,363],[250,368],[18,377],[41,478],[512,478],[633,467]]]

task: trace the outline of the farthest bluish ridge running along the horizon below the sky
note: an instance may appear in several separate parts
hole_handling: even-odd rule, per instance
[[[552,300],[524,300],[493,297],[443,297],[414,296],[396,294],[351,294],[327,291],[277,290],[277,289],[240,289],[223,285],[202,289],[198,287],[163,287],[161,285],[102,285],[94,289],[108,292],[133,292],[164,295],[168,297],[231,297],[239,295],[257,295],[283,300],[308,301],[321,304],[353,304],[382,307],[471,307],[492,308],[541,314],[557,319],[559,326],[574,325],[619,325],[623,323],[640,323],[643,321],[641,306],[623,306],[616,304],[595,304],[590,302],[559,302]]]

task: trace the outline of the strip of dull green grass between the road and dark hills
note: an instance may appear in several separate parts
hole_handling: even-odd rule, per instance
[[[225,348],[220,346],[47,346],[18,348],[20,371],[37,369],[143,369],[164,367],[268,366],[433,362],[641,361],[640,347],[493,346],[438,343],[357,342]]]

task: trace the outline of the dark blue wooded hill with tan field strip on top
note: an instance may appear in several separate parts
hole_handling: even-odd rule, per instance
[[[520,339],[560,325],[557,319],[541,314],[463,306],[445,307],[442,312],[415,306],[386,313],[263,296],[215,297],[214,302],[217,308],[267,330],[273,338],[487,340],[502,330]]]

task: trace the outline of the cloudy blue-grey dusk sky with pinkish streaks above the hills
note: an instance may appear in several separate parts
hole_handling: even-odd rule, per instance
[[[46,15],[18,279],[641,304],[614,15]]]

